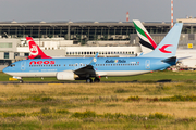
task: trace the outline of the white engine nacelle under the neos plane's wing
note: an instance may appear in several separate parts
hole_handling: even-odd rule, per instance
[[[75,80],[77,75],[75,75],[73,72],[60,72],[57,73],[57,79],[58,80]]]

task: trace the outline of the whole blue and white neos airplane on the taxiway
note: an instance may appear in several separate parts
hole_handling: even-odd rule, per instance
[[[164,69],[176,64],[175,52],[183,24],[176,23],[158,47],[137,57],[33,58],[17,61],[3,73],[23,77],[57,77],[58,80],[99,82],[101,76],[132,76]]]

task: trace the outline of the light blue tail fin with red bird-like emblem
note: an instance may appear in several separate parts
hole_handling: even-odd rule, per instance
[[[175,56],[182,27],[183,27],[182,23],[176,23],[175,26],[168,32],[168,35],[158,44],[155,51],[140,55],[140,57]]]

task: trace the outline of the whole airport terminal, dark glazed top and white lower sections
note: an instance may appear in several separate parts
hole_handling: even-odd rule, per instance
[[[143,23],[159,43],[170,30],[170,23]],[[195,48],[196,23],[183,26],[180,48]],[[30,22],[0,23],[0,64],[10,64],[16,56],[28,56],[25,37],[51,56],[136,54],[140,52],[139,39],[131,22]],[[191,43],[192,46],[187,46]]]

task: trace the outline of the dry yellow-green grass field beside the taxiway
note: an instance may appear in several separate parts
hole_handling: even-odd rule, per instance
[[[0,84],[0,129],[196,129],[194,78],[166,70],[101,78],[139,83]],[[180,82],[154,82],[163,79]]]

